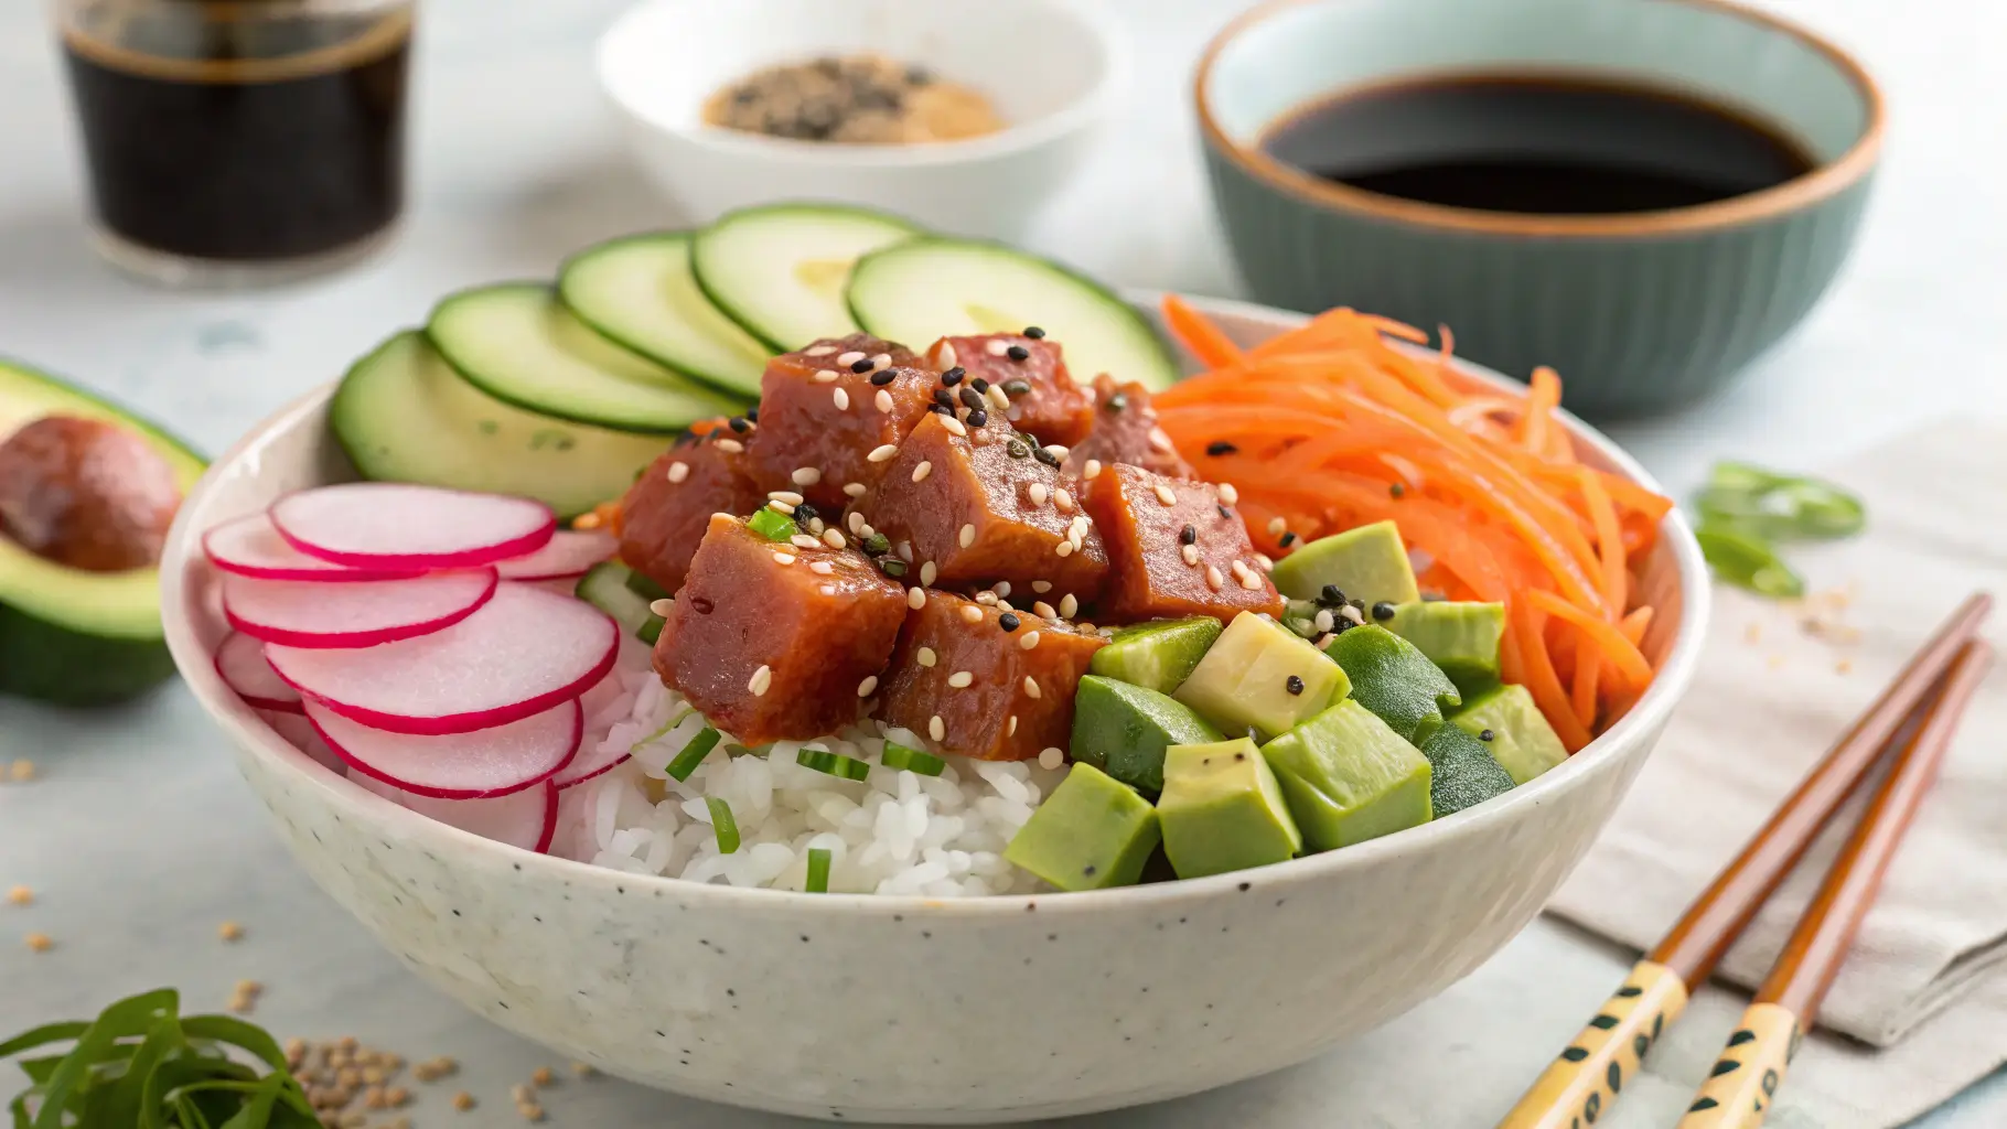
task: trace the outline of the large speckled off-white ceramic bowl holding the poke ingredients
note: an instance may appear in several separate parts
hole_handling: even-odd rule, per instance
[[[1200,305],[1242,341],[1299,321]],[[1487,804],[1276,866],[951,902],[636,878],[393,806],[295,752],[217,680],[209,654],[225,628],[197,533],[349,477],[325,407],[323,389],[275,415],[181,509],[161,582],[191,690],[313,880],[411,969],[562,1055],[733,1105],[1056,1117],[1226,1085],[1381,1025],[1533,918],[1652,752],[1704,636],[1706,572],[1672,515],[1646,576],[1660,676],[1630,716]]]

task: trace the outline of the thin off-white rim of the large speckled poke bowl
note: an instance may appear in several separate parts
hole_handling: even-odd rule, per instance
[[[1156,309],[1162,291],[1138,291],[1124,289],[1122,295],[1138,307]],[[1236,315],[1260,321],[1307,321],[1307,315],[1282,311],[1274,307],[1264,307],[1256,303],[1228,301],[1228,299],[1200,299],[1186,297],[1186,301],[1212,315]],[[1501,389],[1521,387],[1517,381],[1477,365],[1473,361],[1455,359],[1455,365],[1485,383],[1499,385]],[[169,529],[167,547],[161,555],[161,612],[163,626],[167,632],[169,648],[175,654],[175,664],[181,668],[183,682],[189,692],[203,706],[203,710],[225,730],[231,732],[251,750],[253,756],[277,760],[283,764],[283,772],[297,772],[307,780],[309,786],[325,790],[329,802],[349,808],[351,812],[367,816],[371,822],[389,820],[391,826],[401,826],[407,836],[444,836],[448,842],[458,842],[458,846],[472,850],[476,854],[492,856],[490,862],[500,866],[504,862],[514,864],[518,872],[540,874],[560,878],[564,882],[598,882],[602,886],[632,886],[652,890],[658,896],[676,896],[686,908],[696,906],[719,906],[731,908],[735,912],[811,912],[811,914],[869,914],[869,916],[889,916],[889,914],[1014,914],[1026,910],[1038,912],[1096,912],[1102,908],[1120,906],[1142,906],[1142,904],[1162,904],[1180,900],[1204,900],[1218,894],[1228,894],[1236,890],[1246,890],[1252,884],[1260,884],[1262,890],[1280,892],[1297,882],[1315,882],[1333,872],[1373,866],[1377,860],[1395,852],[1419,852],[1427,850],[1439,840],[1469,838],[1477,834],[1479,828],[1511,818],[1519,808],[1539,806],[1547,794],[1557,792],[1569,780],[1590,770],[1590,760],[1600,760],[1614,756],[1612,750],[1618,746],[1646,740],[1646,734],[1656,726],[1662,726],[1672,714],[1674,706],[1684,696],[1688,684],[1694,680],[1694,672],[1700,664],[1702,642],[1708,634],[1710,618],[1710,580],[1708,566],[1700,555],[1700,543],[1694,539],[1694,531],[1688,525],[1684,513],[1674,507],[1666,513],[1660,523],[1660,543],[1668,545],[1678,572],[1680,582],[1680,630],[1674,636],[1672,648],[1666,660],[1660,664],[1658,676],[1652,680],[1652,688],[1632,706],[1624,718],[1620,718],[1610,730],[1592,740],[1582,752],[1575,752],[1567,762],[1543,772],[1541,776],[1519,784],[1517,788],[1505,792],[1503,796],[1485,800],[1469,810],[1457,812],[1441,820],[1429,820],[1427,824],[1399,830],[1369,842],[1347,846],[1343,850],[1325,850],[1319,854],[1307,854],[1301,858],[1291,858],[1286,862],[1272,862],[1268,866],[1254,866],[1248,870],[1230,870],[1226,874],[1212,874],[1206,878],[1178,878],[1170,882],[1144,882],[1136,886],[1118,886],[1108,890],[1046,890],[1036,894],[987,894],[987,896],[967,896],[967,898],[933,898],[921,894],[809,894],[801,890],[771,890],[765,886],[727,886],[712,882],[686,882],[682,878],[672,878],[666,874],[634,874],[628,870],[614,870],[610,866],[594,866],[592,862],[576,862],[570,858],[560,858],[556,854],[538,854],[504,842],[496,842],[448,824],[442,824],[429,816],[421,816],[409,808],[397,806],[367,788],[347,780],[347,776],[335,776],[327,768],[309,760],[303,752],[293,748],[277,732],[271,732],[257,714],[237,700],[229,688],[223,686],[215,672],[209,652],[195,640],[191,626],[191,610],[183,606],[185,572],[189,561],[201,557],[201,533],[189,527],[189,515],[195,511],[195,501],[207,487],[209,481],[221,471],[221,467],[237,463],[251,447],[259,445],[275,427],[293,421],[297,415],[311,411],[317,403],[333,395],[333,383],[321,385],[311,393],[285,405],[249,433],[239,437],[229,451],[211,463],[211,469],[201,481],[189,491],[183,501],[181,513],[175,517],[173,529]],[[1567,423],[1569,431],[1586,441],[1594,451],[1610,459],[1624,475],[1634,479],[1654,491],[1662,491],[1658,481],[1624,449],[1614,441],[1604,437],[1600,431],[1578,419],[1573,413],[1559,413]],[[253,724],[255,722],[255,724]],[[401,822],[399,820],[409,820]],[[622,890],[624,892],[624,890]]]

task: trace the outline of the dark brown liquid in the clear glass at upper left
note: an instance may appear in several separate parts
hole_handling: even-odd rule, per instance
[[[187,12],[179,12],[179,10]],[[203,22],[167,4],[64,32],[100,223],[138,247],[283,261],[403,205],[409,12]]]

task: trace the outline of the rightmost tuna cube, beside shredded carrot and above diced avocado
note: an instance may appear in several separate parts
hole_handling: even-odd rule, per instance
[[[1114,463],[1082,485],[1108,545],[1102,618],[1282,614],[1246,525],[1212,483]]]

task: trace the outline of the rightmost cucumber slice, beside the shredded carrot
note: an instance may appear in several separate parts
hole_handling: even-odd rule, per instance
[[[1018,333],[1038,325],[1082,379],[1108,373],[1152,389],[1178,379],[1156,329],[1100,283],[995,243],[925,237],[863,257],[851,315],[865,333],[923,349],[935,337]]]

